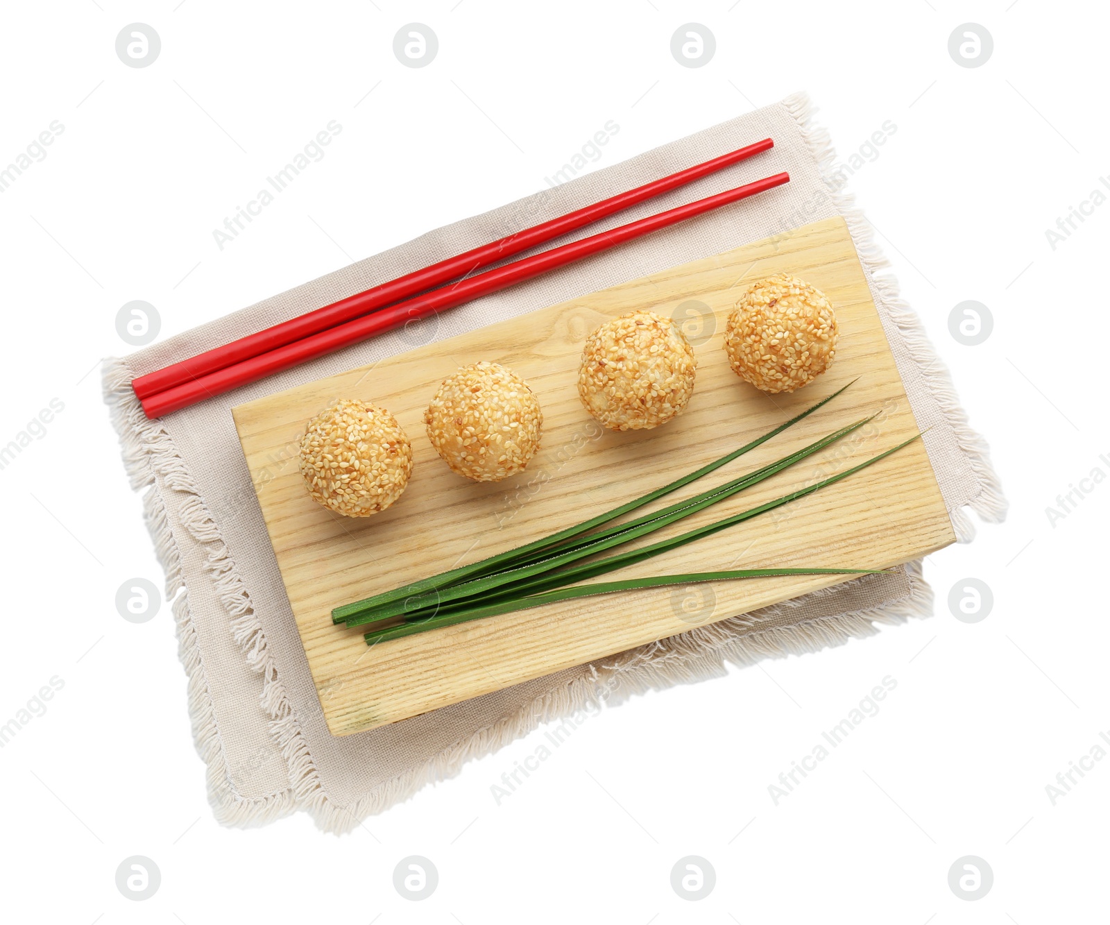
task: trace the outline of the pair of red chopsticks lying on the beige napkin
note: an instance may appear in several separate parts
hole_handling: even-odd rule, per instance
[[[788,182],[789,174],[776,173],[774,177],[629,222],[612,231],[603,231],[495,270],[470,275],[482,267],[488,267],[491,263],[575,231],[629,205],[707,177],[774,145],[775,142],[766,138],[755,144],[722,154],[719,158],[628,192],[618,193],[423,270],[398,277],[365,292],[341,299],[331,305],[266,328],[255,334],[240,338],[230,344],[139,376],[131,385],[142,402],[147,416],[160,418],[238,389],[240,385],[246,385],[271,373],[401,326],[408,321],[488,295],[589,254]],[[463,279],[454,285],[435,289],[460,277]]]

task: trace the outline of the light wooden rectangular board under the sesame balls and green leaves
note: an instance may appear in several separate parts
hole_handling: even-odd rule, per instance
[[[729,370],[722,341],[744,288],[783,271],[828,294],[840,335],[828,372],[794,394],[768,395]],[[602,322],[645,308],[689,319],[684,329],[698,358],[694,396],[683,414],[655,430],[606,431],[578,400],[582,346]],[[478,360],[523,375],[544,413],[539,451],[524,473],[500,483],[452,473],[424,432],[423,412],[438,383]],[[842,220],[828,219],[233,409],[329,728],[345,735],[393,723],[845,581],[776,577],[636,591],[375,646],[367,646],[360,631],[331,621],[331,609],[339,604],[511,549],[673,481],[857,378],[816,414],[657,505],[880,412],[870,425],[662,536],[654,534],[650,542],[840,472],[917,432],[848,229]],[[306,422],[340,398],[389,408],[415,454],[404,495],[366,519],[342,517],[317,505],[295,464]],[[828,489],[622,570],[620,576],[775,565],[887,567],[953,541],[918,441]]]

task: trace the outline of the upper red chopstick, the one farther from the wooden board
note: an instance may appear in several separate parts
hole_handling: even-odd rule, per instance
[[[158,392],[164,392],[174,385],[180,385],[216,370],[250,360],[252,356],[258,356],[279,346],[302,340],[311,334],[381,309],[384,305],[434,289],[458,277],[468,275],[475,270],[488,267],[491,263],[496,263],[506,257],[521,253],[537,244],[543,244],[583,228],[591,222],[604,219],[606,215],[612,215],[615,212],[643,202],[646,199],[715,173],[730,164],[766,151],[774,145],[775,142],[771,139],[765,138],[755,144],[730,151],[727,154],[722,154],[719,158],[714,158],[705,163],[680,170],[677,173],[672,173],[669,177],[654,180],[650,183],[645,183],[643,187],[618,193],[609,199],[603,199],[601,202],[595,202],[592,205],[568,212],[566,215],[543,222],[534,228],[524,229],[515,234],[509,234],[507,238],[483,244],[481,248],[474,248],[457,257],[433,263],[423,270],[416,270],[403,277],[397,277],[397,279],[387,283],[382,283],[373,289],[367,289],[365,292],[341,299],[331,305],[307,312],[299,318],[275,324],[272,328],[266,328],[255,334],[249,334],[223,346],[199,353],[189,360],[182,360],[180,363],[174,363],[165,369],[141,375],[131,383],[131,388],[134,389],[135,395],[140,399],[145,399]]]

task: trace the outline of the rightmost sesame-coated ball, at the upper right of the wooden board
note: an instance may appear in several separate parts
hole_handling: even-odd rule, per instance
[[[725,352],[740,379],[793,392],[833,365],[836,314],[819,289],[779,273],[753,283],[728,316]]]

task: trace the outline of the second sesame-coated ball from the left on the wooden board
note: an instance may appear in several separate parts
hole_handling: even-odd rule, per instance
[[[440,385],[424,412],[427,439],[454,472],[500,482],[523,472],[544,415],[528,383],[496,363],[472,363]]]

